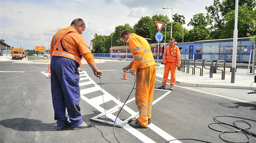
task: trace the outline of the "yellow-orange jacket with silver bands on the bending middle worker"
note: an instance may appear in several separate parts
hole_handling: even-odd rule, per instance
[[[127,42],[129,42],[130,50],[133,56],[133,71],[136,71],[138,68],[156,65],[150,45],[145,38],[133,33],[128,38]]]

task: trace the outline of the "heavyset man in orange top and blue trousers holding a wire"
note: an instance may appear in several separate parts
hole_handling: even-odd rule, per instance
[[[80,87],[78,67],[84,57],[95,76],[100,78],[102,72],[97,68],[91,51],[82,37],[85,22],[75,19],[69,27],[59,29],[53,36],[51,55],[51,91],[54,119],[57,130],[71,126],[72,130],[87,128],[90,122],[82,120],[80,112]],[[69,116],[69,122],[65,116]]]

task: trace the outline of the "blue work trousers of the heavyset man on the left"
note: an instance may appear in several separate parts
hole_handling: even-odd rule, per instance
[[[67,124],[66,108],[72,128],[83,122],[79,106],[80,77],[78,65],[72,59],[52,56],[50,64],[51,90],[54,120],[57,121],[57,128],[62,128]]]

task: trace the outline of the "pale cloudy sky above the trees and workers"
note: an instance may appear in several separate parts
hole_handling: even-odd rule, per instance
[[[14,48],[48,50],[58,29],[81,18],[86,25],[82,36],[89,42],[94,34],[108,36],[116,26],[133,26],[141,17],[162,14],[171,19],[171,9],[162,7],[184,15],[184,26],[191,29],[187,24],[193,15],[207,13],[210,5],[213,0],[0,0],[0,39]]]

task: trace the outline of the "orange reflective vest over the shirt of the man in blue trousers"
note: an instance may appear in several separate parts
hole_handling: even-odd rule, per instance
[[[56,34],[56,43],[54,45],[54,50],[52,52],[52,56],[66,57],[66,58],[69,58],[69,59],[72,59],[72,60],[76,61],[80,65],[81,60],[82,60],[82,56],[78,57],[77,55],[69,53],[65,50],[65,48],[62,47],[61,40],[69,32],[78,33],[77,31],[74,31],[73,29],[68,29],[68,28],[63,28],[63,29],[58,30],[58,32]]]

